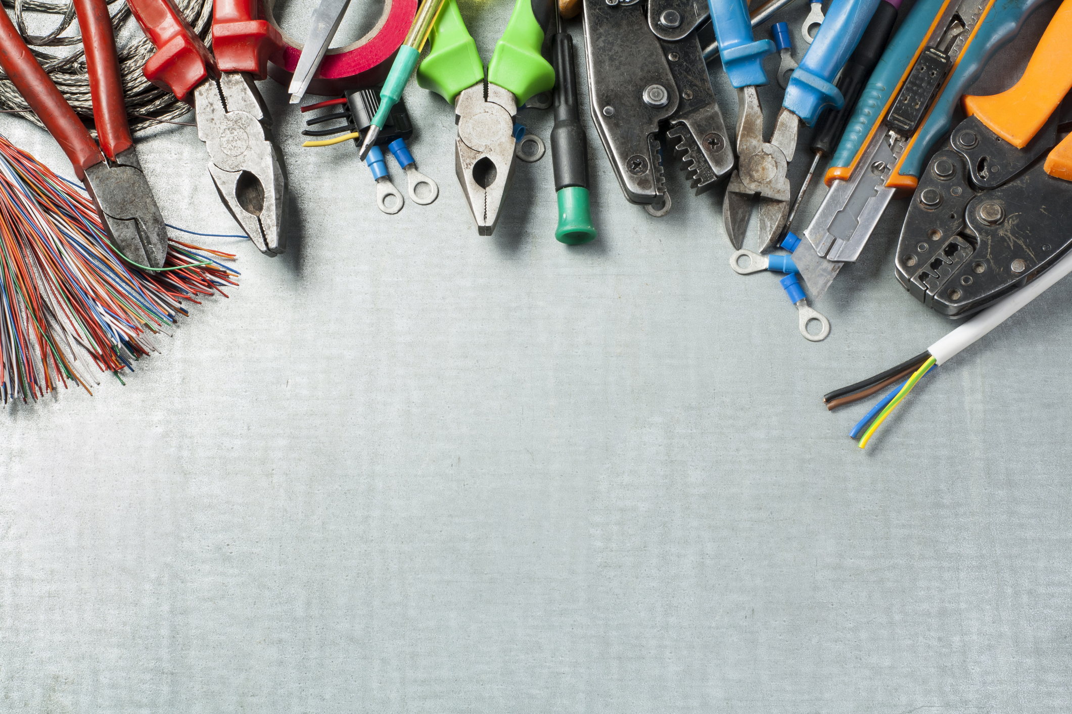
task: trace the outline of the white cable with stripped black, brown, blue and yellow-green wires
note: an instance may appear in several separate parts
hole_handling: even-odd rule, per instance
[[[991,330],[1008,320],[1017,310],[1041,295],[1069,273],[1072,273],[1072,253],[1067,254],[1054,263],[1053,268],[1036,277],[1016,292],[1006,295],[956,330],[950,332],[932,345],[926,352],[917,354],[911,360],[902,362],[896,367],[891,367],[855,384],[830,392],[822,398],[827,404],[827,409],[833,410],[837,407],[866,399],[870,395],[896,383],[896,386],[875,405],[849,432],[851,438],[859,438],[859,446],[864,449],[875,435],[876,429],[882,425],[882,422],[890,415],[890,412],[904,401],[908,393],[912,391],[912,388],[919,383],[924,375],[936,366],[944,364],[956,354],[959,354],[969,345],[974,344],[976,340],[980,339]]]

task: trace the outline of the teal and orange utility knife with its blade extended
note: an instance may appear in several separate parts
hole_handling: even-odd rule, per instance
[[[814,299],[855,262],[896,193],[913,192],[930,148],[989,58],[1046,0],[919,0],[872,74],[794,256]]]

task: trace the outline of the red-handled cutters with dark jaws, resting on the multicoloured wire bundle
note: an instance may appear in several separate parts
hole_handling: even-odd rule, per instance
[[[126,124],[111,18],[104,0],[74,0],[74,6],[100,148],[2,12],[0,66],[71,159],[113,246],[134,265],[160,269],[167,258],[167,228]]]

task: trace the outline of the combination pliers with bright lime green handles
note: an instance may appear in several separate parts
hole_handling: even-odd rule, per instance
[[[427,1],[427,0],[426,0]],[[554,18],[554,0],[517,0],[488,63],[457,0],[447,0],[432,26],[432,48],[417,69],[417,83],[455,105],[455,168],[477,230],[491,236],[513,179],[513,120],[528,97],[554,87],[554,69],[540,55]]]

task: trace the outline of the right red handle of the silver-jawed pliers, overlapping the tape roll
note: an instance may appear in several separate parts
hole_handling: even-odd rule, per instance
[[[268,76],[268,57],[283,49],[283,36],[263,17],[258,0],[213,2],[212,50],[221,71]]]

